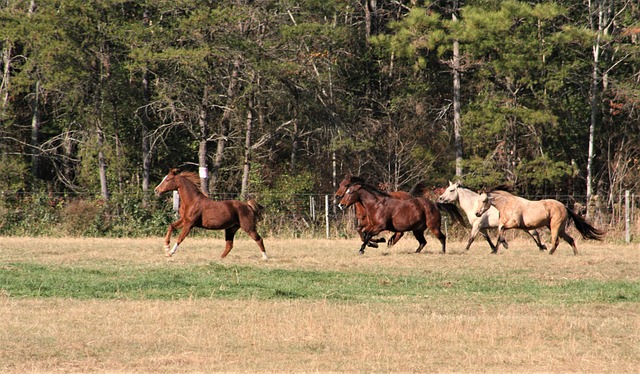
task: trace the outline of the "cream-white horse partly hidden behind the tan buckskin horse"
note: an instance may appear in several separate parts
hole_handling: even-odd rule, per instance
[[[491,246],[491,252],[496,253],[498,250],[495,245],[491,242],[491,238],[489,237],[488,229],[498,227],[499,214],[498,210],[491,206],[487,209],[482,216],[476,216],[476,209],[478,203],[478,193],[462,187],[460,182],[451,183],[449,182],[449,187],[438,197],[439,203],[455,203],[456,201],[460,204],[460,208],[464,210],[467,214],[467,219],[471,224],[471,234],[469,235],[469,241],[467,242],[466,250],[469,250],[471,247],[471,243],[476,239],[478,233],[484,236],[487,239],[487,243]],[[536,243],[538,248],[542,251],[547,249],[547,247],[542,244],[540,240],[540,234],[537,230],[524,230],[527,234],[531,235],[533,241]],[[509,248],[509,245],[506,241],[502,243],[505,248]]]

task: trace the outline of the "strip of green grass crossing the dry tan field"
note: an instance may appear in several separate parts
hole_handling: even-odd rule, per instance
[[[549,284],[522,274],[419,275],[263,269],[209,264],[180,268],[0,266],[0,294],[75,299],[329,299],[393,302],[427,298],[483,303],[640,302],[640,282],[593,279]]]

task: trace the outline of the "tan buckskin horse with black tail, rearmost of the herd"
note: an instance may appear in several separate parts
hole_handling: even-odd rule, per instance
[[[531,230],[547,227],[551,230],[551,250],[553,254],[560,244],[560,238],[564,239],[573,248],[573,254],[578,254],[578,248],[572,237],[566,233],[567,223],[573,220],[576,229],[584,239],[602,240],[605,232],[591,226],[584,218],[575,214],[558,200],[545,199],[531,201],[512,195],[504,186],[496,187],[491,191],[483,192],[478,196],[478,209],[476,216],[482,216],[489,207],[494,206],[500,212],[498,224],[498,243],[504,244],[504,232],[509,229]]]

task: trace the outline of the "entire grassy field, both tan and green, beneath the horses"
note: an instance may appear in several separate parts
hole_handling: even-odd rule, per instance
[[[640,247],[0,238],[2,372],[638,372]]]

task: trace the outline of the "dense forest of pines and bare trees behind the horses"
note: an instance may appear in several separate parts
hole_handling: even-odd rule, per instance
[[[300,232],[347,172],[509,183],[609,226],[640,183],[637,1],[3,0],[0,22],[2,235],[157,235],[170,167]]]

